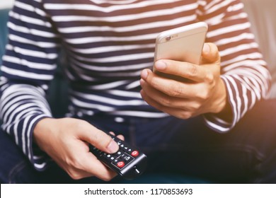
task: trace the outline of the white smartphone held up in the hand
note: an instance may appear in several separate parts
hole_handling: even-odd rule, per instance
[[[198,22],[159,33],[156,37],[154,62],[159,59],[172,59],[180,62],[200,64],[207,29],[207,23]],[[178,76],[163,74],[155,69],[154,72],[166,78],[183,80]]]

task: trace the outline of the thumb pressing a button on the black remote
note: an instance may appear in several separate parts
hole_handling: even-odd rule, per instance
[[[88,122],[87,122],[88,123]],[[119,146],[112,139],[111,136],[105,132],[93,127],[91,124],[81,126],[80,139],[87,141],[89,144],[96,146],[96,148],[106,153],[115,153],[119,150]]]

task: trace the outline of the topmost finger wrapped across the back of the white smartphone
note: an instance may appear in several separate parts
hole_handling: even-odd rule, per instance
[[[205,68],[202,66],[168,59],[156,61],[154,68],[162,73],[180,76],[196,82],[202,81],[206,75]]]

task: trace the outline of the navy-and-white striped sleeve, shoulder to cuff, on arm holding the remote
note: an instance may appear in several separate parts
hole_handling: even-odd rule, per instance
[[[52,117],[45,95],[57,67],[59,37],[40,1],[15,1],[7,25],[0,79],[2,129],[43,170],[50,158],[33,144],[33,128],[43,117]]]

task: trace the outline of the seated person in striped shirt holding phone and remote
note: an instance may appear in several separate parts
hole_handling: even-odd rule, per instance
[[[232,132],[270,87],[242,8],[240,1],[16,1],[1,66],[2,129],[38,170],[35,180],[51,160],[74,180],[111,180],[115,173],[88,144],[116,152],[105,134],[113,131],[145,151],[149,172],[260,182],[256,161],[275,149],[252,142],[260,133]],[[209,25],[200,65],[153,62],[158,33],[197,21]],[[71,103],[67,116],[55,119],[45,95],[61,47]],[[162,78],[153,65],[192,83]]]

